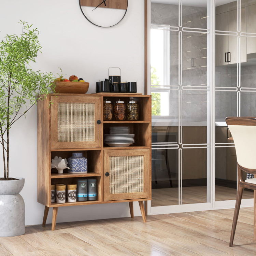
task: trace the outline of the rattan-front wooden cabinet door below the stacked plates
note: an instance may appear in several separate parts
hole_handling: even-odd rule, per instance
[[[149,150],[104,151],[104,201],[149,198]]]

